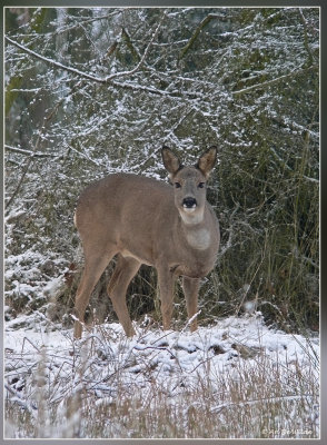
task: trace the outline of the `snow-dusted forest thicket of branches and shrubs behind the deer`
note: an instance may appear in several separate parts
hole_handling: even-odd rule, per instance
[[[250,307],[317,332],[319,9],[6,14],[6,319],[40,312],[70,326],[82,267],[72,216],[88,184],[113,171],[165,180],[164,144],[187,162],[217,145],[208,200],[222,241],[200,323]],[[90,304],[100,322],[115,317],[109,274]],[[160,320],[152,269],[129,294],[133,319]]]

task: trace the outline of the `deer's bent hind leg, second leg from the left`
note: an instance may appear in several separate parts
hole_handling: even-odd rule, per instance
[[[131,279],[140,268],[140,265],[141,264],[137,259],[123,257],[119,254],[116,268],[107,289],[113,309],[128,337],[132,337],[135,330],[126,305],[126,291]]]

